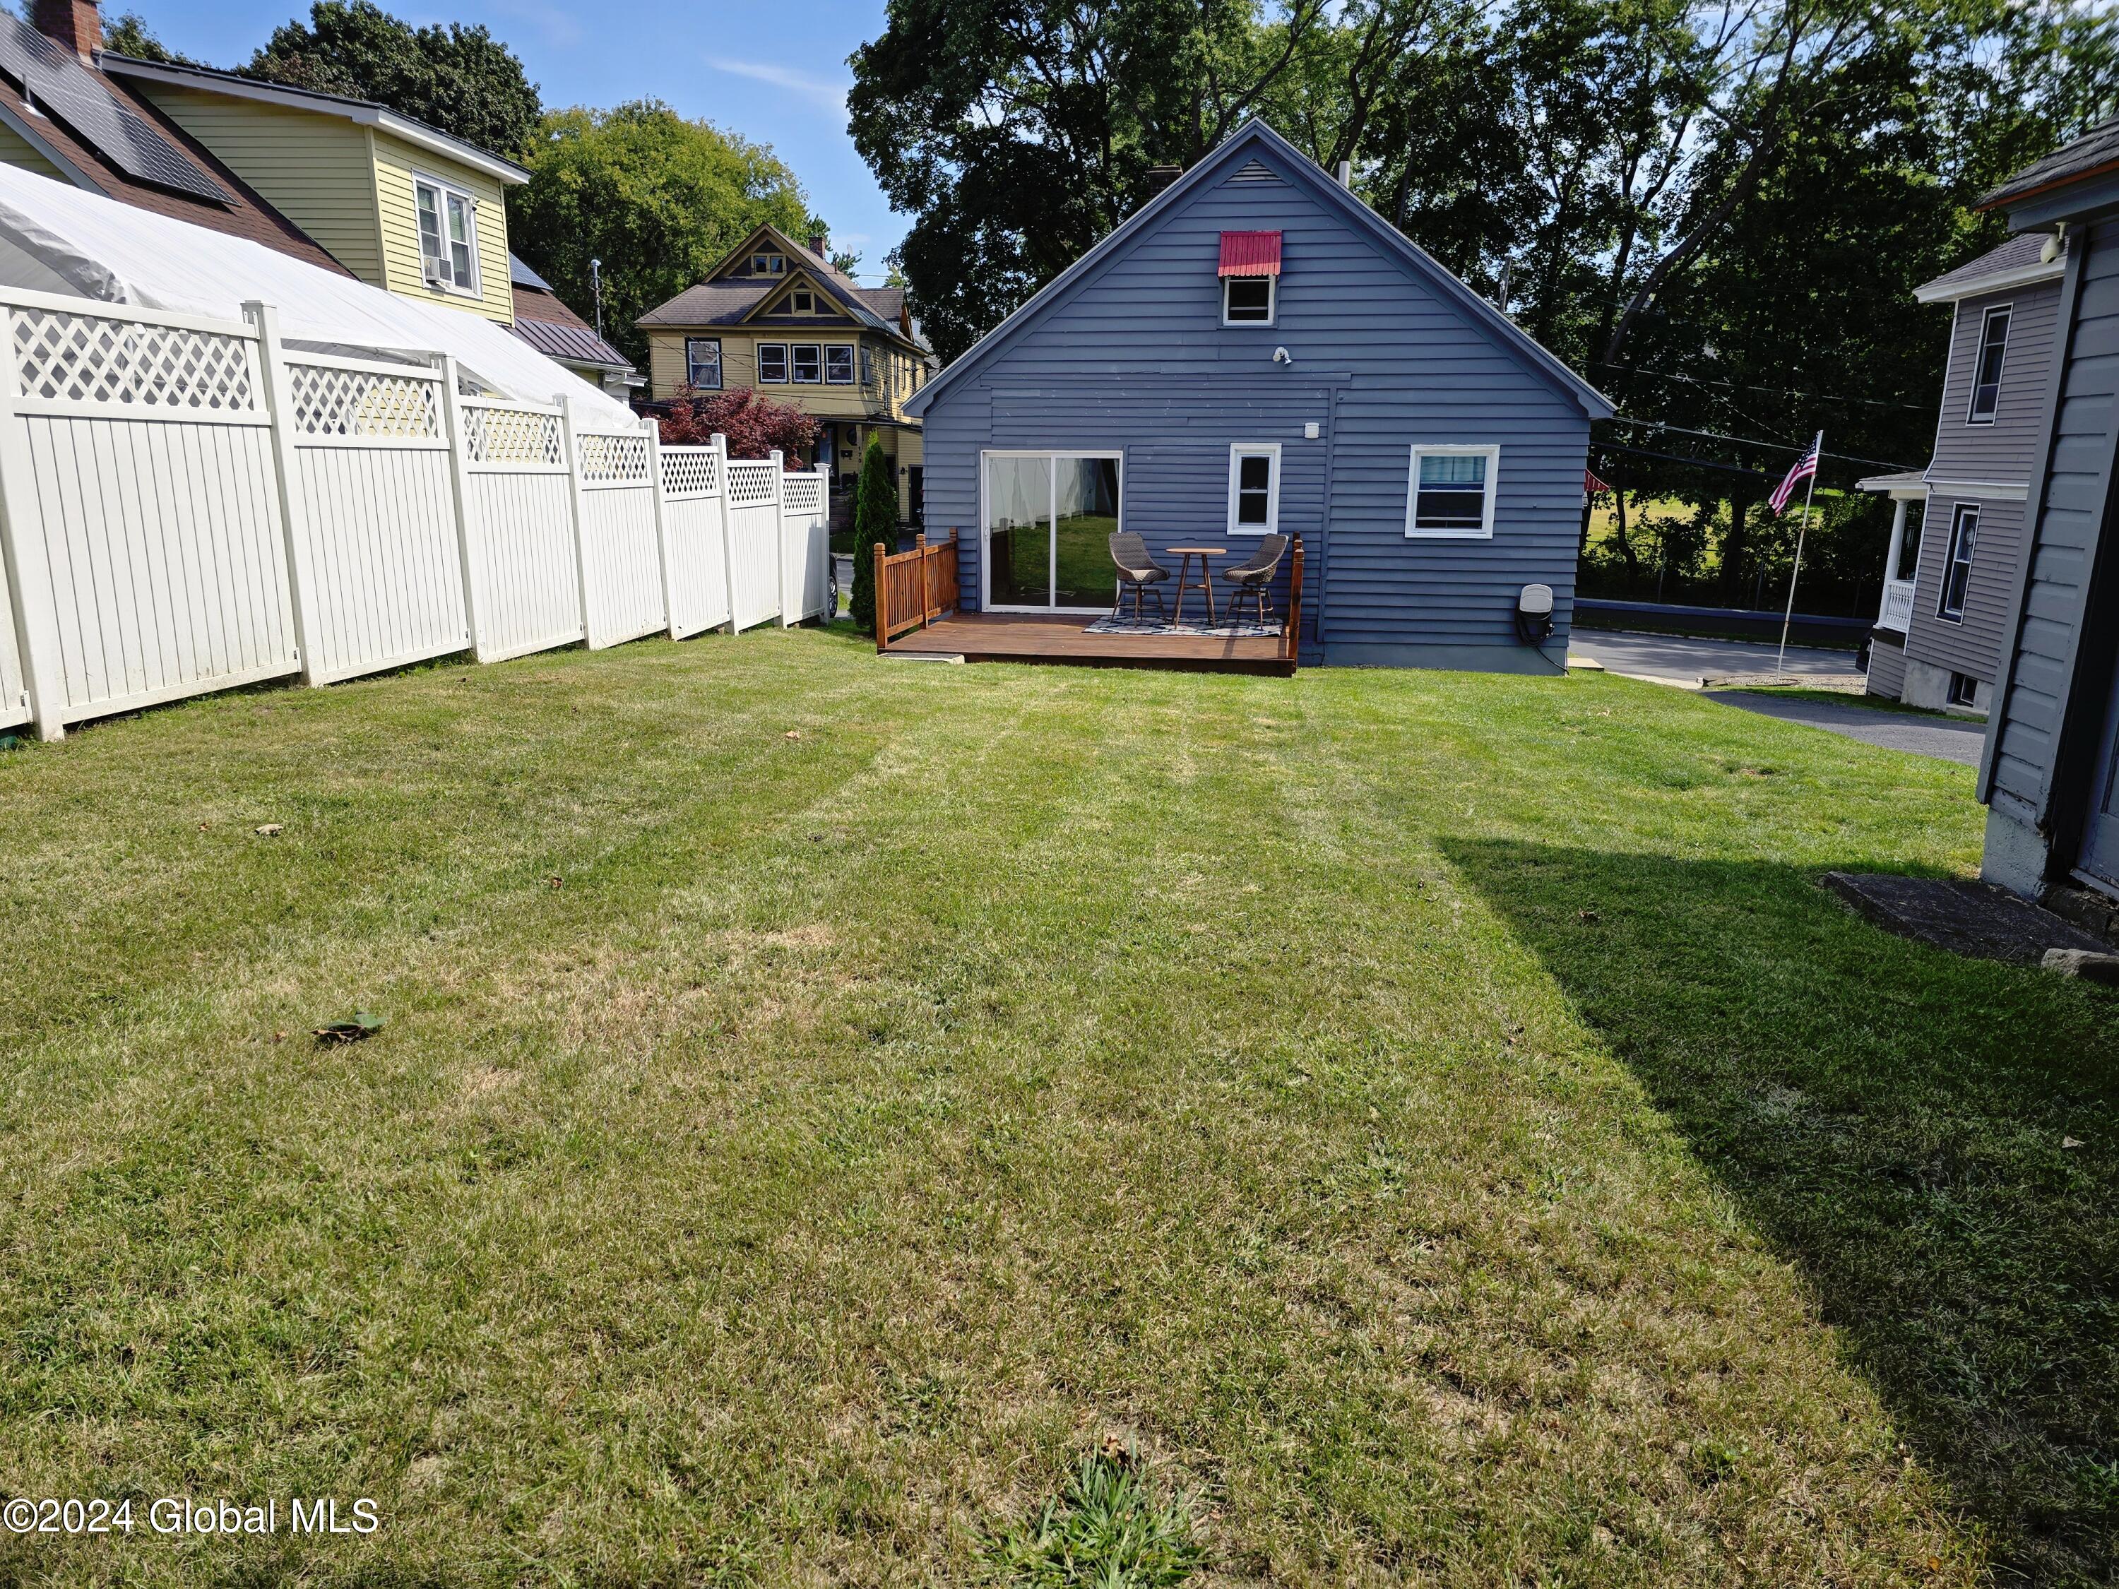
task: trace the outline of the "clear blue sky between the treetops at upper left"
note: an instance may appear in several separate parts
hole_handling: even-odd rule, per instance
[[[884,0],[780,4],[585,6],[557,0],[466,0],[445,11],[392,4],[411,23],[485,23],[523,61],[547,106],[667,100],[687,117],[771,144],[795,167],[833,246],[860,254],[860,280],[884,280],[905,235],[845,136],[845,57],[884,28]],[[184,55],[235,66],[309,0],[104,0],[138,11]]]

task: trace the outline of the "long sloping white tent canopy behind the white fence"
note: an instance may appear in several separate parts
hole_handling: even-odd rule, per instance
[[[638,424],[623,403],[483,316],[413,303],[265,244],[11,165],[0,165],[0,286],[222,320],[242,320],[242,305],[261,299],[280,311],[280,335],[290,343],[451,354],[468,377],[502,396],[551,403],[566,392],[591,424]]]

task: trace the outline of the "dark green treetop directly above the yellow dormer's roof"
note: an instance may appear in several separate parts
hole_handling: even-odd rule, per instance
[[[375,100],[466,144],[519,157],[542,104],[515,53],[485,28],[413,28],[373,0],[316,0],[239,68],[292,89]]]

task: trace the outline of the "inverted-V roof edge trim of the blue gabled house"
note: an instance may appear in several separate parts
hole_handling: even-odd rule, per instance
[[[1598,392],[1589,381],[1577,375],[1562,362],[1557,354],[1547,350],[1528,331],[1509,320],[1500,309],[1473,292],[1456,273],[1435,258],[1428,250],[1407,237],[1403,231],[1384,220],[1375,210],[1363,203],[1352,189],[1339,186],[1322,165],[1303,155],[1295,144],[1282,138],[1261,119],[1246,121],[1221,146],[1216,146],[1204,161],[1193,165],[1185,176],[1165,186],[1153,199],[1142,203],[1134,214],[1112,227],[1102,242],[1098,242],[1089,252],[1068,265],[1060,275],[1038,288],[1028,303],[1023,303],[1015,314],[1002,320],[998,326],[987,331],[962,358],[947,364],[941,375],[922,386],[905,400],[905,411],[913,417],[924,415],[934,398],[964,377],[966,371],[975,369],[985,360],[985,356],[1009,341],[1017,331],[1026,328],[1030,320],[1040,316],[1047,307],[1066,297],[1089,271],[1102,265],[1110,254],[1129,244],[1138,233],[1155,225],[1168,210],[1189,197],[1195,189],[1218,182],[1229,176],[1229,167],[1237,155],[1248,146],[1263,144],[1269,153],[1278,155],[1293,180],[1297,184],[1307,184],[1320,197],[1337,203],[1350,220],[1363,231],[1367,231],[1377,244],[1394,252],[1401,261],[1413,267],[1413,271],[1428,280],[1452,305],[1456,305],[1466,320],[1490,331],[1504,347],[1521,356],[1521,360],[1566,392],[1574,403],[1581,405],[1583,413],[1591,419],[1610,419],[1617,409],[1610,398]],[[1248,169],[1248,165],[1237,167]]]

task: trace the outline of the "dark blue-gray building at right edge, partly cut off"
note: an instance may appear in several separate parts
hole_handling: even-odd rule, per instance
[[[1979,767],[1983,873],[2119,898],[2119,119],[1983,206],[2064,258]]]

